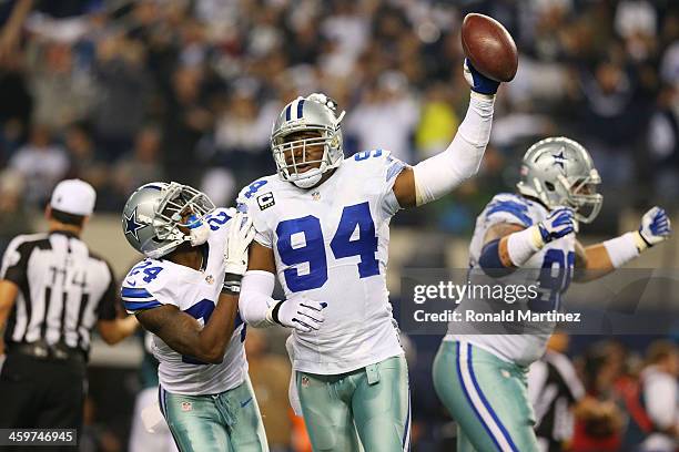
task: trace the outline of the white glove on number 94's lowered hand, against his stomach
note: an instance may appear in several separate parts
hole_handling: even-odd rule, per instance
[[[314,301],[305,296],[290,298],[273,305],[266,312],[266,320],[300,332],[311,332],[321,328],[326,306],[326,302]]]

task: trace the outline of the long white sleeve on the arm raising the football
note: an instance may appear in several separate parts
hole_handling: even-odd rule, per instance
[[[419,162],[415,172],[417,205],[430,203],[478,172],[490,138],[495,96],[472,93],[469,109],[453,143],[440,154]]]

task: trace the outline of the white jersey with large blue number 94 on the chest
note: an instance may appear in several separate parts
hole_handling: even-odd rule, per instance
[[[386,288],[392,191],[405,164],[376,150],[355,154],[318,187],[277,175],[243,188],[255,240],[273,249],[286,299],[327,302],[318,331],[293,332],[295,370],[348,372],[403,353]]]

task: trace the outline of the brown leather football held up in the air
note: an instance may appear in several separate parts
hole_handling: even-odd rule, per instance
[[[467,14],[462,27],[462,44],[474,68],[487,78],[508,82],[516,75],[516,44],[497,20],[484,14]]]

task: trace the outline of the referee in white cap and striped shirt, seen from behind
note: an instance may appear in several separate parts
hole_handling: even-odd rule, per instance
[[[49,233],[17,236],[4,253],[0,429],[80,430],[92,328],[110,345],[136,329],[134,316],[116,318],[111,267],[80,239],[95,198],[90,184],[62,181],[45,209]]]

